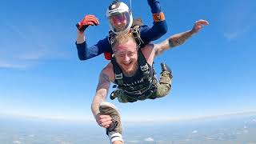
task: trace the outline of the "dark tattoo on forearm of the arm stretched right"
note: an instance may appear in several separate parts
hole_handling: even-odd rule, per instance
[[[175,34],[173,37],[169,39],[169,46],[179,46],[182,45],[188,38],[192,36],[192,33],[190,31],[186,31],[181,34]]]

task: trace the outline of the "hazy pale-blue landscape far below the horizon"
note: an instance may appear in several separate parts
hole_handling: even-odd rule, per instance
[[[127,144],[256,144],[256,114],[233,114],[180,122],[124,122]],[[1,144],[107,144],[105,130],[86,124],[0,117]]]

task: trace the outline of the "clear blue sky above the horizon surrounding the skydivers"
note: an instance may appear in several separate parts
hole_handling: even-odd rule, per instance
[[[128,1],[124,1],[128,3]],[[124,121],[170,120],[256,111],[256,2],[160,0],[169,31],[156,42],[185,30],[198,19],[209,26],[155,60],[172,69],[166,98],[113,103]],[[99,26],[86,30],[91,46],[108,34],[110,1],[28,0],[0,4],[0,115],[91,120],[103,56],[79,61],[75,24],[95,14]],[[132,1],[134,17],[152,26],[146,0]],[[107,98],[110,102],[110,99]]]

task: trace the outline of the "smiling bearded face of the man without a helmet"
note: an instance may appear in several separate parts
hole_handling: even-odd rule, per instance
[[[138,63],[138,49],[133,40],[114,46],[114,57],[126,73],[133,72]]]

